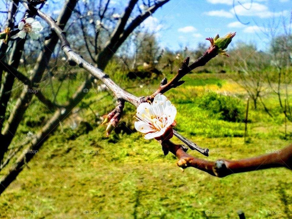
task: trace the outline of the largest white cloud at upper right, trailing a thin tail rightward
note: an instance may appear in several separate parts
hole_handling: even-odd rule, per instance
[[[250,3],[236,5],[234,9],[230,9],[231,13],[234,13],[234,11],[238,16],[257,16],[260,18],[277,17],[282,14],[285,15],[288,12],[271,12],[266,5],[255,2],[252,3],[252,5],[250,5]]]

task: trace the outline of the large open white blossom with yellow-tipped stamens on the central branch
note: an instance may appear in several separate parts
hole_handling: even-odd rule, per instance
[[[172,127],[176,125],[176,107],[162,94],[154,97],[153,103],[141,103],[137,107],[134,126],[145,139],[169,140]]]

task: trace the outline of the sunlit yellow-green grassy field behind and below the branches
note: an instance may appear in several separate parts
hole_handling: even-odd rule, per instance
[[[221,120],[200,107],[210,93],[231,96],[246,106],[245,91],[227,78],[227,74],[190,74],[185,84],[165,94],[178,110],[176,130],[209,148],[208,160],[246,158],[290,144],[291,138],[284,137],[284,116],[276,94],[263,97],[273,118],[261,106],[254,110],[251,103],[248,143],[244,143],[242,122]],[[157,87],[155,83],[145,85],[145,92],[129,90],[146,96]],[[89,94],[84,104],[106,94]],[[238,210],[252,219],[292,218],[290,170],[259,170],[225,178],[192,168],[182,172],[175,156],[164,156],[157,141],[144,140],[134,132],[135,109],[129,104],[122,119],[124,127],[105,138],[99,116],[113,107],[114,101],[106,96],[91,105],[98,116],[79,106],[78,112],[62,122],[57,134],[49,137],[0,196],[0,218],[238,218]],[[35,115],[36,111],[41,113]],[[39,104],[27,115],[19,139],[36,131],[50,112]],[[81,121],[74,130],[70,128],[73,120]],[[40,124],[30,128],[28,121]],[[291,123],[287,125],[291,131]],[[196,151],[189,153],[203,158]]]

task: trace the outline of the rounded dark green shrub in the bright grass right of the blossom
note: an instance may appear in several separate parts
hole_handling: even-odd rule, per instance
[[[230,96],[221,96],[217,93],[209,93],[203,96],[199,107],[207,109],[210,114],[218,116],[218,119],[241,122],[244,120],[245,107],[243,103]]]

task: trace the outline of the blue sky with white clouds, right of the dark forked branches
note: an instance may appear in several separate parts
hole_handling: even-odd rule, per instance
[[[233,45],[243,41],[265,50],[271,32],[284,33],[283,19],[289,29],[291,0],[235,1],[235,12],[246,25],[236,18],[232,4],[232,0],[172,0],[146,20],[145,25],[155,32],[161,47],[171,50],[184,46],[194,49],[207,37],[235,31]]]

